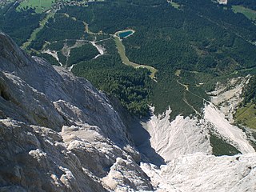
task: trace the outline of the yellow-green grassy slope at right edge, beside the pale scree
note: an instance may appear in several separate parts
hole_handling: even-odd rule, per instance
[[[237,110],[235,118],[239,124],[256,129],[256,105],[248,103]]]

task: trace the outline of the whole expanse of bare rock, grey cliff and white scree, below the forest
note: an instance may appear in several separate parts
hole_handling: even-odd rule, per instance
[[[0,191],[255,191],[254,148],[230,124],[240,90],[229,91],[201,118],[130,123],[90,82],[0,33]],[[210,131],[242,154],[211,155]]]

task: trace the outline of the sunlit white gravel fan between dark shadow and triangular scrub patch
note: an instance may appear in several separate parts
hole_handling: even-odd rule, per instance
[[[194,118],[177,116],[170,122],[171,110],[162,116],[151,116],[144,127],[150,134],[151,146],[169,162],[184,154],[203,152],[211,154],[208,130]]]

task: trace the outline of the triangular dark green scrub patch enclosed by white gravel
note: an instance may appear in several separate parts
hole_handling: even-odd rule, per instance
[[[210,133],[210,146],[212,146],[215,156],[242,154],[234,146],[214,133]]]

